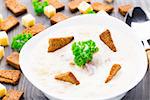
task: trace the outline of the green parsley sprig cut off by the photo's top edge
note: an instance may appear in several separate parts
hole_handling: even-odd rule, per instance
[[[41,15],[44,13],[44,7],[48,6],[47,1],[40,1],[40,0],[32,0],[32,5],[34,7],[34,11],[37,15]]]

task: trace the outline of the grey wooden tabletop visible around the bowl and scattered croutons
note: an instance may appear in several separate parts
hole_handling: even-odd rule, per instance
[[[79,12],[72,14],[68,7],[67,3],[70,0],[60,0],[66,4],[66,8],[63,13],[65,13],[68,16],[75,16],[78,15]],[[93,0],[94,1],[103,1],[103,0]],[[36,17],[37,23],[43,23],[46,27],[51,26],[50,21],[47,17],[43,16],[36,16],[34,14],[31,0],[20,0],[23,4],[25,4],[28,7],[28,13],[31,13]],[[115,0],[115,2],[112,4],[115,8],[114,12],[111,14],[111,16],[117,17],[120,20],[123,20],[124,18],[118,13],[118,6],[120,4],[126,4],[126,3],[132,3],[134,6],[142,6],[144,9],[147,9],[150,11],[150,0]],[[8,11],[4,5],[4,0],[0,0],[0,13],[6,18],[9,15],[13,15],[10,11]],[[23,16],[23,15],[22,15]],[[9,40],[12,40],[12,37],[15,36],[15,34],[20,33],[24,27],[21,24],[21,17],[17,17],[20,21],[20,25],[8,32]],[[0,61],[0,69],[13,69],[11,66],[6,64],[6,57],[12,52],[12,49],[9,47],[5,48],[5,57],[3,60]],[[6,85],[6,84],[4,84]],[[6,85],[7,89],[14,88],[18,90],[24,91],[24,100],[47,100],[47,98],[44,96],[44,94],[39,91],[37,88],[35,88],[25,77],[22,75],[21,80],[17,86],[11,86]],[[144,79],[131,91],[127,93],[127,95],[122,100],[150,100],[150,70],[147,72]]]

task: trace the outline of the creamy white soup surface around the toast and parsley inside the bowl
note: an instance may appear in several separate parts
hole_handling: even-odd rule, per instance
[[[105,96],[115,92],[116,89],[122,89],[122,86],[130,84],[136,77],[136,73],[132,73],[134,67],[131,67],[135,66],[133,58],[136,54],[134,52],[131,53],[131,50],[135,50],[136,47],[134,48],[132,42],[126,44],[126,41],[129,41],[130,38],[129,40],[124,39],[124,35],[121,35],[114,29],[109,29],[117,48],[117,52],[112,52],[99,38],[99,34],[104,30],[105,27],[103,26],[78,26],[76,30],[72,27],[67,27],[54,33],[47,33],[49,34],[48,36],[42,38],[33,46],[33,49],[30,51],[32,58],[28,59],[31,62],[32,77],[34,77],[37,84],[40,84],[41,88],[50,94],[60,98],[67,97],[68,100],[94,100],[101,95]],[[70,44],[53,53],[47,52],[48,39],[50,37],[71,35],[75,39]],[[74,57],[71,50],[72,44],[75,41],[90,39],[95,41],[99,47],[99,51],[94,54],[91,64],[84,69],[76,65],[71,66],[70,62],[73,61]],[[105,84],[113,64],[120,64],[122,68],[109,83]],[[68,71],[71,71],[80,81],[79,85],[55,80],[56,74]],[[132,78],[129,78],[131,76]]]

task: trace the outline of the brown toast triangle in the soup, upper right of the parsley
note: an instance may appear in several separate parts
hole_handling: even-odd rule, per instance
[[[112,51],[114,52],[117,51],[113,39],[111,37],[111,33],[108,29],[104,31],[102,34],[100,34],[99,37]]]

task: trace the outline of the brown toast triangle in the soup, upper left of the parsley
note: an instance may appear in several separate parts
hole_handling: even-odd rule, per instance
[[[67,44],[69,44],[74,39],[73,36],[60,37],[60,38],[50,38],[48,52],[54,52]]]

